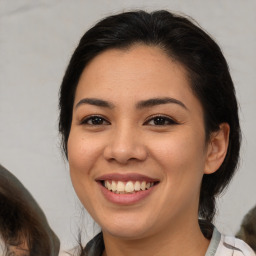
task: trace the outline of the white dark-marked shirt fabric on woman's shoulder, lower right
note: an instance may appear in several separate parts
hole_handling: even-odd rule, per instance
[[[255,256],[254,251],[244,241],[233,236],[221,235],[216,256]]]

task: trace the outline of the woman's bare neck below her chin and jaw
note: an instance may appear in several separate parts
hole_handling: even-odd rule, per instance
[[[191,222],[187,222],[191,223]],[[209,245],[198,222],[192,224],[175,223],[151,236],[140,239],[122,239],[103,232],[105,251],[103,256],[204,256]]]

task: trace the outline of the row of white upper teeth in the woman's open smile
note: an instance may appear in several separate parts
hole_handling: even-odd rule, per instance
[[[154,186],[153,182],[146,182],[146,181],[105,181],[104,182],[105,188],[108,190],[115,192],[116,194],[125,194],[125,193],[135,193],[140,190],[145,191]]]

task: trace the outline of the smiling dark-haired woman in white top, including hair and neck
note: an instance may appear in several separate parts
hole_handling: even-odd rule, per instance
[[[81,255],[254,255],[211,224],[240,127],[225,58],[188,19],[128,12],[86,32],[61,85],[59,130],[102,229]]]

